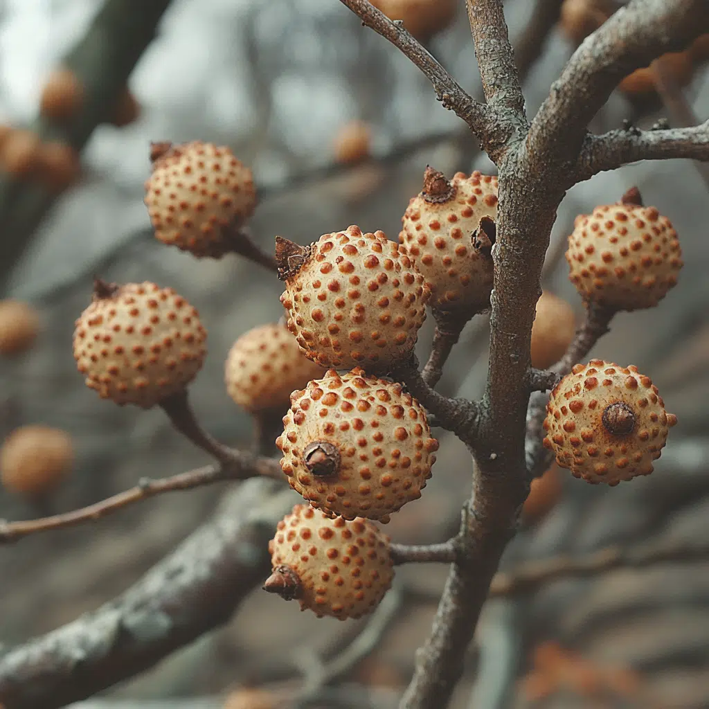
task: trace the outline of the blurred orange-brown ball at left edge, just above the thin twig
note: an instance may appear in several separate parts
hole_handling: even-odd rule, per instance
[[[0,448],[0,480],[6,489],[36,497],[54,491],[74,463],[67,432],[31,425],[14,430]]]

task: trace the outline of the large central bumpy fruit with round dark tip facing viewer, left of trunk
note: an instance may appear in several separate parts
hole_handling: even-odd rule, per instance
[[[417,500],[431,476],[438,442],[423,407],[362,369],[294,391],[276,440],[291,487],[313,507],[346,519],[389,521]]]

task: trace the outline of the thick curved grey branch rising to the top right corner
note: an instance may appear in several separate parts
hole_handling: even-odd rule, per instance
[[[574,52],[532,121],[527,153],[537,169],[578,155],[589,121],[630,72],[708,30],[705,0],[632,0],[613,14]]]

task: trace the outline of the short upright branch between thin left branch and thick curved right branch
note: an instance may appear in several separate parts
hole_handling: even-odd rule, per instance
[[[466,0],[485,98],[505,123],[526,130],[525,99],[502,0]]]

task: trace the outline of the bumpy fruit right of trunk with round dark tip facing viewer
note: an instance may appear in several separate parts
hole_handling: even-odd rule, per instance
[[[614,486],[652,473],[676,423],[649,376],[591,359],[576,364],[552,391],[544,445],[577,478]]]

